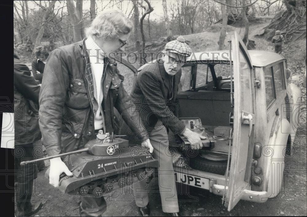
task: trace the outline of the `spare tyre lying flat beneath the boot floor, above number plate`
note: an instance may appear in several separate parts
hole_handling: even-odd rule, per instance
[[[227,168],[227,160],[209,160],[201,155],[189,158],[189,166],[192,169],[204,172],[224,175]]]

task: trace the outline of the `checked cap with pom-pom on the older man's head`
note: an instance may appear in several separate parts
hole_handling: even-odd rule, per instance
[[[172,53],[178,53],[186,57],[189,57],[192,54],[191,48],[187,43],[185,43],[185,38],[182,36],[177,37],[176,40],[166,43],[165,50]]]

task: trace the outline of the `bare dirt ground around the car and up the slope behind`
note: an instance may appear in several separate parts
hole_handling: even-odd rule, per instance
[[[260,32],[269,21],[263,21],[261,24],[254,24],[250,27],[250,37],[255,40],[257,50],[273,51],[272,44],[255,36]],[[214,28],[214,27],[212,27]],[[218,27],[215,27],[218,28]],[[229,27],[228,35],[236,30],[243,34],[244,28]],[[217,50],[217,39],[219,31],[197,33],[184,36],[190,40],[190,46],[194,51]],[[227,39],[226,39],[227,42]],[[227,43],[226,43],[227,44]],[[306,88],[302,87],[303,74],[305,72],[305,63],[303,61],[306,55],[306,39],[288,44],[284,47],[282,55],[288,60],[288,68],[291,69],[290,82],[297,84],[302,90],[302,105],[300,123],[298,125],[297,136],[294,140],[294,154],[286,157],[285,175],[283,179],[283,190],[275,198],[270,198],[265,203],[252,203],[248,201],[239,201],[235,208],[228,212],[222,205],[221,196],[209,193],[206,190],[191,188],[191,196],[196,197],[197,201],[189,202],[188,196],[179,196],[179,207],[181,215],[192,216],[272,216],[272,215],[307,215],[306,209]],[[26,55],[23,55],[24,57]],[[30,62],[30,60],[28,61]],[[130,72],[129,72],[130,73]],[[125,75],[125,88],[130,92],[130,84],[133,77],[128,72],[122,72]],[[293,79],[294,78],[294,79]],[[49,166],[49,161],[45,161]],[[45,169],[46,170],[46,169]],[[62,194],[44,177],[45,170],[38,173],[36,179],[36,190],[33,199],[44,202],[42,209],[36,216],[78,216],[79,204],[78,197],[68,194]],[[164,216],[161,209],[161,199],[159,195],[157,178],[154,178],[149,184],[150,209],[152,216]],[[106,198],[107,211],[103,216],[140,216],[138,208],[134,202],[132,194],[120,195],[117,198]]]

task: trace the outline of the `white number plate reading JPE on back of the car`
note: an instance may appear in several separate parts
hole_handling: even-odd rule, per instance
[[[209,189],[208,178],[175,172],[175,180],[179,183],[191,185],[197,188]]]

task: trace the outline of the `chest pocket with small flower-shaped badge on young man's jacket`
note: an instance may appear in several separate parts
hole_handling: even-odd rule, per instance
[[[76,109],[90,106],[83,78],[70,78],[66,105]]]

